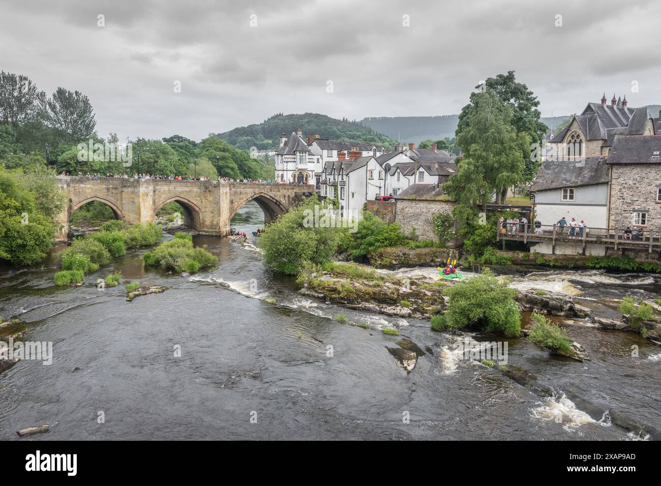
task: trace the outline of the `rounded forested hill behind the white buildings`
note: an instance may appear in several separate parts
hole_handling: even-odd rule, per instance
[[[337,120],[319,113],[275,114],[262,123],[241,126],[223,132],[210,134],[227,141],[238,149],[276,149],[279,147],[280,134],[289,137],[297,128],[303,130],[303,138],[308,134],[319,135],[329,140],[348,142],[367,142],[392,147],[394,140],[369,128],[364,124],[350,120]]]

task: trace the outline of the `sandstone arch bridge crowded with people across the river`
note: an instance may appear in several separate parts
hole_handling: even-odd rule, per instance
[[[153,222],[159,209],[175,201],[183,208],[186,225],[203,234],[225,236],[232,217],[245,203],[254,200],[268,223],[313,192],[290,184],[169,179],[58,177],[58,185],[68,196],[59,217],[60,241],[67,239],[71,214],[91,201],[104,202],[118,220],[129,224]]]

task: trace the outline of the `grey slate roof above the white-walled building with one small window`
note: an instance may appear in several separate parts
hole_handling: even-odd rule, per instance
[[[606,157],[586,157],[584,165],[578,163],[582,167],[576,167],[576,164],[574,161],[543,161],[530,190],[590,186],[609,181]]]

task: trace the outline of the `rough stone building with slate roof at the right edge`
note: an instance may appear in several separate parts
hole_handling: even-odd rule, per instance
[[[661,135],[615,136],[610,168],[609,225],[661,231]]]

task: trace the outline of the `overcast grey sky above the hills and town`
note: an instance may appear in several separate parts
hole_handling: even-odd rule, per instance
[[[658,19],[658,0],[0,0],[0,69],[85,93],[120,139],[200,140],[276,112],[453,114],[512,69],[550,116],[603,91],[661,104]]]

